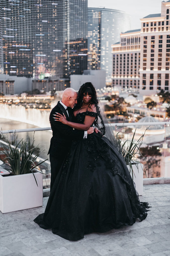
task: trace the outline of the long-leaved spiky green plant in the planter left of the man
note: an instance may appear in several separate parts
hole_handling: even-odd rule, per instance
[[[40,156],[41,151],[38,152],[38,147],[34,147],[34,135],[32,143],[30,142],[30,137],[28,138],[28,141],[23,140],[22,138],[18,142],[18,135],[16,135],[16,133],[14,134],[14,146],[12,146],[11,143],[5,137],[4,141],[6,142],[6,145],[0,142],[0,146],[2,147],[1,151],[6,156],[3,159],[6,165],[5,169],[8,170],[8,172],[10,172],[11,175],[32,173],[37,184],[34,172],[36,170],[36,172],[42,173],[37,167],[48,159],[38,164],[35,164],[36,159],[37,157]]]

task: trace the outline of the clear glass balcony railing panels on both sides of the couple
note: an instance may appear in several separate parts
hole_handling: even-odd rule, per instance
[[[144,179],[170,178],[170,126],[168,122],[111,123],[109,125],[112,126],[113,134],[115,136],[117,134],[122,140],[121,143],[123,144],[125,142],[126,146],[132,141],[134,132],[134,142],[137,142],[142,134],[145,133],[143,143],[140,147],[140,152],[144,157],[140,157],[136,154],[137,159],[143,164],[145,169],[143,172]],[[40,157],[37,161],[49,158],[47,153],[52,137],[51,127],[7,130],[2,132],[11,142],[11,145],[14,141],[14,133],[18,135],[18,140],[21,138],[28,140],[28,137],[30,137],[32,141],[34,136],[34,144],[38,146],[38,150],[41,150]],[[3,143],[2,138],[0,140]],[[0,159],[2,160],[3,157],[2,152],[0,152]],[[50,187],[49,159],[41,165],[41,170],[46,174],[43,177],[43,189],[46,190]]]

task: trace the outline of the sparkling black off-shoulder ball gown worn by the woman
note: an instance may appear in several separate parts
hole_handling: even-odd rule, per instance
[[[78,113],[74,122],[83,123]],[[99,133],[72,143],[56,177],[45,212],[34,222],[54,234],[79,240],[84,234],[106,232],[146,218],[148,203],[140,202],[126,163],[115,146]]]

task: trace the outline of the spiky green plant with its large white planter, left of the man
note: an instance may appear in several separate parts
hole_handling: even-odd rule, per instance
[[[43,205],[43,173],[40,171],[42,162],[36,162],[40,152],[33,142],[18,142],[14,134],[14,146],[4,137],[0,142],[1,152],[8,174],[0,175],[0,210],[2,213],[19,211]],[[36,152],[36,153],[35,153]],[[38,153],[37,153],[38,152]],[[4,171],[3,171],[4,172]]]

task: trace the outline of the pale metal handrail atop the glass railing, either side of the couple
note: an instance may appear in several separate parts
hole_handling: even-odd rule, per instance
[[[111,125],[111,126],[140,126],[140,125],[167,125],[170,124],[169,122],[150,122],[150,123],[110,123],[105,125]],[[19,133],[19,132],[34,132],[34,131],[48,131],[51,130],[51,127],[44,127],[44,128],[30,128],[30,129],[13,129],[13,130],[4,130],[0,133]]]

